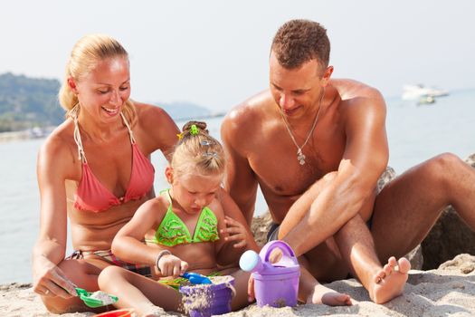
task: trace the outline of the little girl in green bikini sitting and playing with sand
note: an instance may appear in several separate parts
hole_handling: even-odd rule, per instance
[[[112,252],[124,261],[149,264],[155,268],[155,279],[176,278],[185,271],[230,274],[235,310],[248,304],[249,274],[229,266],[237,266],[242,252],[256,245],[246,227],[224,216],[216,198],[223,181],[224,153],[205,128],[204,122],[185,124],[165,171],[171,188],[138,208],[114,238]],[[144,236],[147,244],[142,242]],[[116,306],[132,307],[141,316],[158,314],[157,306],[176,312],[182,302],[175,288],[118,266],[107,267],[99,283],[101,290],[119,297]]]

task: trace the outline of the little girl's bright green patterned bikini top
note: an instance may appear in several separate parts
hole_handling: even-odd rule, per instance
[[[195,235],[192,238],[183,220],[173,212],[172,197],[170,197],[169,189],[160,191],[160,194],[165,191],[170,205],[153,239],[146,239],[146,242],[157,245],[174,246],[219,240],[218,220],[210,208],[204,207],[202,209],[198,222],[196,223]]]

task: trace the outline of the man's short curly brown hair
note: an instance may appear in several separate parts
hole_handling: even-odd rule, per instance
[[[280,26],[271,46],[280,65],[288,69],[317,59],[323,71],[328,67],[330,41],[327,29],[309,20],[290,20]]]

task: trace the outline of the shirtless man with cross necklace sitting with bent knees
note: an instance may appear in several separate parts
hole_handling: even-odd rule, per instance
[[[376,194],[389,156],[385,101],[360,82],[330,80],[328,60],[320,24],[280,27],[270,89],[223,121],[225,187],[251,223],[259,184],[280,225],[271,238],[288,242],[318,280],[353,274],[375,303],[385,303],[403,293],[410,269],[392,255],[418,245],[443,207],[451,204],[475,228],[475,172],[442,154]]]

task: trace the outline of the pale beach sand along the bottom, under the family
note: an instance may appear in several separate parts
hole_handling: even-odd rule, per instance
[[[260,308],[252,304],[228,317],[244,316],[473,316],[475,315],[475,256],[458,255],[437,270],[411,271],[404,294],[377,305],[369,301],[363,286],[355,279],[329,283],[328,287],[348,293],[353,306],[298,305],[290,308]],[[31,284],[0,286],[0,310],[3,316],[58,316],[46,311]],[[91,312],[66,313],[62,316],[93,316]],[[176,313],[173,314],[176,316]]]

